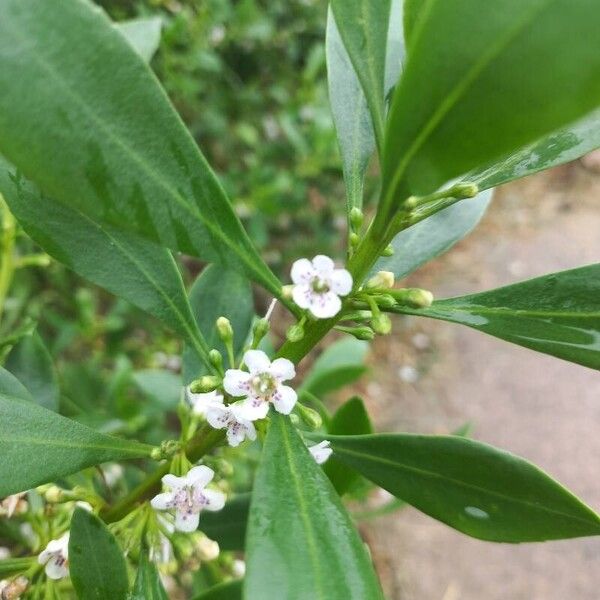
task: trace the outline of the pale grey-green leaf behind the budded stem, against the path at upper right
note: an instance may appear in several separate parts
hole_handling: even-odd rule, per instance
[[[392,241],[394,254],[380,258],[372,272],[392,271],[397,279],[406,277],[431,259],[448,251],[479,223],[492,191],[462,200],[401,231]]]

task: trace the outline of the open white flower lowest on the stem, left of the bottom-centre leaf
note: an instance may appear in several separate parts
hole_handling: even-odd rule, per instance
[[[203,510],[221,510],[225,505],[225,494],[206,489],[215,472],[204,465],[193,467],[184,477],[165,475],[162,482],[169,492],[152,498],[150,504],[156,510],[175,510],[175,529],[195,531]]]

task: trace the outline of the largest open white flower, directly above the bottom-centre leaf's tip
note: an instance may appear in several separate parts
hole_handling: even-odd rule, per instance
[[[296,404],[296,392],[283,381],[296,376],[294,364],[287,358],[276,358],[273,362],[262,350],[248,350],[244,354],[248,371],[228,369],[223,387],[228,394],[244,396],[238,416],[249,421],[264,419],[269,412],[269,402],[275,410],[289,415]]]

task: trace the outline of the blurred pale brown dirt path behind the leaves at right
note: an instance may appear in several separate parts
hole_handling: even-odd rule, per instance
[[[480,228],[413,276],[436,296],[600,259],[600,176],[580,165],[507,186]],[[361,390],[380,431],[474,437],[536,463],[600,509],[598,373],[465,327],[404,319]],[[407,509],[368,537],[390,600],[598,600],[600,539],[494,545]]]

